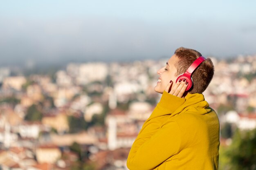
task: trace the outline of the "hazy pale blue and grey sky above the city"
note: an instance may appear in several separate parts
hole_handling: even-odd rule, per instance
[[[0,64],[256,54],[255,0],[0,0]]]

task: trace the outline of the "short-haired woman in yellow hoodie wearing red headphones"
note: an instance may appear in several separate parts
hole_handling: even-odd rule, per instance
[[[183,47],[157,71],[162,97],[132,145],[130,170],[218,170],[219,120],[202,95],[213,73],[211,59]]]

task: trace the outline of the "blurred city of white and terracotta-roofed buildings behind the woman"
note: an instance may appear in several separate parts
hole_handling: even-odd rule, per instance
[[[211,59],[215,75],[203,94],[220,120],[219,169],[229,170],[230,150],[256,128],[256,55]],[[128,170],[167,60],[70,63],[49,74],[0,68],[0,170]],[[251,169],[254,134],[252,154],[238,162]]]

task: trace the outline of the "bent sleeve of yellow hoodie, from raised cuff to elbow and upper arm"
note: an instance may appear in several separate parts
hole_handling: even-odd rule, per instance
[[[173,113],[184,102],[185,99],[164,91],[132,145],[127,159],[130,170],[151,170],[178,152],[180,128],[177,122],[169,121],[160,126],[164,123],[162,117]]]

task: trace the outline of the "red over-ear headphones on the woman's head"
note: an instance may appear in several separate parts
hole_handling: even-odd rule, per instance
[[[192,64],[191,66],[189,66],[189,68],[186,70],[186,73],[184,74],[181,74],[177,77],[176,79],[176,83],[179,79],[186,79],[186,82],[188,82],[188,86],[186,87],[186,91],[188,91],[192,85],[193,85],[193,80],[192,80],[192,77],[191,77],[191,74],[195,71],[195,68],[198,68],[198,66],[204,62],[206,59],[201,56],[199,57],[198,59],[196,59]]]

